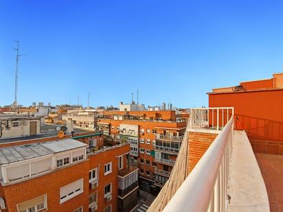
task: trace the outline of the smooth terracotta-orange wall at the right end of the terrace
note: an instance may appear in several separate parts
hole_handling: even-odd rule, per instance
[[[283,90],[209,94],[209,106],[234,107],[236,130],[247,132],[253,150],[280,154],[283,145]],[[267,145],[258,147],[256,141],[276,147],[271,146],[272,150]]]

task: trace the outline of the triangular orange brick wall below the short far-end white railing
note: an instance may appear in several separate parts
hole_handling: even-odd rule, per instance
[[[189,163],[188,170],[190,173],[196,163],[199,162],[203,154],[210,147],[218,134],[203,133],[203,132],[189,132]]]

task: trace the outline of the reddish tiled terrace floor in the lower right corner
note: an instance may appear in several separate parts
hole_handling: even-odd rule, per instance
[[[271,212],[283,211],[283,155],[256,153]]]

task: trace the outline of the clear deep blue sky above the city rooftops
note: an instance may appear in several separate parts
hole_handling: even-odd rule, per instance
[[[207,105],[283,71],[283,1],[0,1],[0,105]],[[136,95],[135,95],[136,97]]]

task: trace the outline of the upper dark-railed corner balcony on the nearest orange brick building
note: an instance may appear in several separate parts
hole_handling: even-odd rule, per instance
[[[137,189],[139,168],[128,165],[125,169],[118,171],[118,196],[124,198],[128,193]]]

